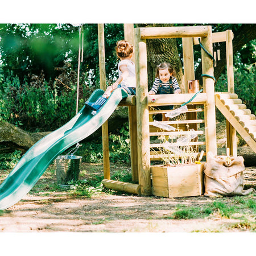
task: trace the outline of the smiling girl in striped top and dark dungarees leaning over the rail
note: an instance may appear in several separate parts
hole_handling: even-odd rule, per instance
[[[172,76],[174,68],[170,63],[161,63],[156,69],[154,84],[148,94],[172,94],[181,93],[177,79]],[[159,106],[159,109],[173,109],[174,106]],[[169,118],[162,114],[162,121],[168,121]]]

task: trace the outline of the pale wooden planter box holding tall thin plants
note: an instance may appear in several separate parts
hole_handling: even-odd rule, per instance
[[[152,195],[200,196],[204,193],[203,163],[185,166],[151,166]]]

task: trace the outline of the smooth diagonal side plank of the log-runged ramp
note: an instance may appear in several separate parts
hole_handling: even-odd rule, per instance
[[[224,117],[231,123],[234,129],[241,135],[245,142],[256,152],[256,141],[243,129],[242,125],[237,121],[231,112],[222,104],[222,102],[216,97],[216,107],[224,115]]]

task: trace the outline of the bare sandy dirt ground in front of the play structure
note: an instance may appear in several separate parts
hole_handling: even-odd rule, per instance
[[[97,175],[102,175],[102,164],[96,165]],[[91,166],[82,163],[83,169],[90,170]],[[87,173],[86,178],[95,175]],[[245,189],[256,188],[256,167],[247,167],[243,179]],[[46,181],[56,183],[55,175],[44,174],[38,183]],[[65,191],[33,192],[0,214],[0,232],[248,232],[230,229],[237,220],[218,215],[189,220],[168,218],[179,204],[200,207],[214,200],[204,196],[168,199],[122,193],[76,198]],[[230,198],[223,197],[222,201],[229,203]]]

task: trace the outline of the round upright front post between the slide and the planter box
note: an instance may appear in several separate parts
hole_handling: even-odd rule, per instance
[[[141,194],[151,195],[150,177],[150,137],[147,105],[147,47],[141,40],[140,28],[135,28],[135,64],[137,83],[137,133],[138,133],[138,171]]]

